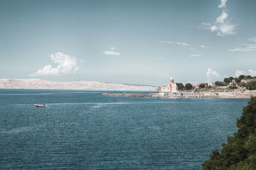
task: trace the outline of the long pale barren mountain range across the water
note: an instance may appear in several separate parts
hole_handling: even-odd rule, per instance
[[[0,79],[0,89],[68,89],[68,90],[127,90],[156,91],[158,87],[150,85],[129,85],[100,81],[47,81],[41,79]]]

